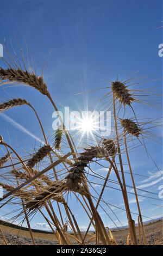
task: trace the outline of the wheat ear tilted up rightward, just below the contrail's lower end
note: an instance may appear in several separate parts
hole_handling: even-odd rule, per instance
[[[52,148],[49,145],[44,145],[40,148],[36,154],[33,155],[32,159],[27,162],[29,168],[33,168],[36,163],[39,163],[45,156],[51,152]]]

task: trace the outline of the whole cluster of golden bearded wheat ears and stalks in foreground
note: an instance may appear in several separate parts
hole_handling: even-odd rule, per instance
[[[33,87],[37,93],[41,93],[51,102],[63,126],[63,130],[56,130],[52,139],[49,139],[34,103],[28,102],[26,99],[14,98],[0,104],[1,112],[7,112],[11,108],[18,108],[23,105],[32,110],[35,114],[35,125],[41,130],[45,142],[26,158],[15,150],[14,145],[7,143],[1,134],[0,145],[5,154],[0,159],[0,185],[5,194],[1,198],[0,207],[2,208],[6,204],[16,206],[17,212],[10,221],[16,220],[20,223],[27,223],[33,245],[35,245],[37,236],[32,231],[30,221],[36,213],[45,219],[52,231],[52,234],[47,235],[47,238],[51,236],[52,239],[53,236],[59,245],[73,245],[74,243],[89,245],[92,241],[96,245],[117,245],[117,235],[109,227],[105,227],[99,214],[101,202],[105,203],[103,193],[108,186],[110,173],[113,171],[116,175],[116,182],[120,186],[124,203],[123,210],[126,212],[128,220],[129,229],[124,232],[123,237],[126,236],[127,245],[146,245],[146,229],[143,224],[139,191],[137,191],[135,184],[130,151],[135,147],[142,147],[157,167],[144,140],[148,136],[148,127],[160,126],[160,124],[158,120],[146,121],[146,118],[139,121],[134,110],[136,104],[143,106],[146,103],[142,95],[147,93],[143,92],[142,89],[131,88],[131,83],[134,81],[130,79],[124,81],[117,79],[108,84],[104,99],[110,105],[112,120],[114,120],[114,133],[109,138],[97,136],[93,142],[90,139],[81,149],[78,148],[71,132],[66,129],[43,75],[37,76],[34,70],[28,71],[25,64],[26,59],[23,57],[17,60],[13,53],[7,51],[7,54],[9,57],[8,61],[5,60],[7,68],[0,68],[1,86],[5,88],[5,86],[12,84],[13,87],[16,85]],[[151,95],[149,98],[151,99]],[[126,109],[128,109],[130,117],[126,117]],[[29,111],[30,113],[31,111]],[[135,146],[134,143],[137,143],[138,146]],[[135,157],[139,157],[139,152],[135,153]],[[137,205],[136,220],[133,218],[128,199],[129,192],[124,165],[126,160],[128,175],[130,175],[131,187],[133,188],[133,192],[130,193],[134,194]],[[90,176],[93,175],[91,166],[93,168],[95,163],[100,165],[102,161],[105,162],[108,172],[104,178],[95,175],[97,184],[99,179],[102,179],[103,182],[101,193],[97,195],[92,190],[90,192],[90,187],[92,188]],[[120,169],[117,167],[117,163],[120,164]],[[91,173],[87,171],[88,167]],[[94,190],[96,192],[96,187]],[[148,192],[150,193],[150,191]],[[67,200],[67,198],[69,199]],[[89,218],[86,232],[80,230],[78,217],[73,214],[68,204],[69,200],[74,200],[77,205],[80,204],[84,214]],[[138,223],[137,228],[135,221]],[[95,229],[91,235],[90,227]],[[70,234],[70,230],[73,235]],[[1,231],[3,233],[3,228]],[[3,239],[4,243],[7,244],[5,235]]]

